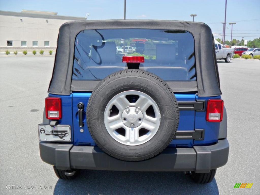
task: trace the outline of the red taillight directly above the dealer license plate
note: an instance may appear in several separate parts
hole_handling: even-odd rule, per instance
[[[45,113],[47,119],[60,120],[61,113],[61,98],[46,97],[45,99]]]

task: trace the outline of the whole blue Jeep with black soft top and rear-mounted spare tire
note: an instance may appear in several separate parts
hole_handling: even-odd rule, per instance
[[[130,44],[142,54],[129,54]],[[214,39],[204,23],[65,23],[48,93],[40,154],[61,179],[80,169],[183,171],[209,183],[228,160]]]

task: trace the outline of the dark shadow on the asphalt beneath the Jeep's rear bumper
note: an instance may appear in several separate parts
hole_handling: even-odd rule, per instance
[[[82,170],[75,180],[59,179],[53,194],[219,194],[219,191],[215,179],[209,184],[196,184],[183,172]]]

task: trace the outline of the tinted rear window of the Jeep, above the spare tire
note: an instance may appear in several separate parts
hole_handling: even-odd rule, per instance
[[[194,38],[184,30],[83,30],[75,40],[73,80],[102,80],[127,69],[122,56],[144,56],[139,69],[165,81],[196,80]]]

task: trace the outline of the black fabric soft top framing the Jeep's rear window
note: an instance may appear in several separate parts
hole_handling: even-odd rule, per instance
[[[198,92],[198,96],[221,95],[219,75],[211,29],[205,23],[165,20],[93,20],[64,23],[59,30],[58,46],[49,93],[69,95],[77,87],[86,85],[91,91],[99,81],[72,82],[74,43],[77,34],[86,29],[170,29],[189,31],[195,40],[197,81],[169,81],[173,92]]]

